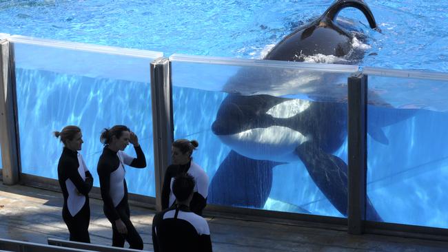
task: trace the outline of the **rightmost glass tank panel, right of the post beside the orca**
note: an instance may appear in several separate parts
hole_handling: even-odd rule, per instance
[[[371,203],[383,222],[448,228],[448,74],[364,72]]]

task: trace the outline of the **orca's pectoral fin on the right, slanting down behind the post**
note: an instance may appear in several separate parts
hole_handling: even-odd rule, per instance
[[[332,154],[327,154],[312,142],[296,148],[309,176],[338,211],[347,216],[348,178],[347,164]],[[367,197],[366,212],[368,220],[381,221],[376,209]]]

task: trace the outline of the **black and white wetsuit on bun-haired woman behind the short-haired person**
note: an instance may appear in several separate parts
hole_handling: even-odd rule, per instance
[[[190,210],[202,216],[202,210],[207,205],[208,176],[195,162],[190,161],[186,165],[170,165],[165,171],[162,187],[162,209],[167,209],[176,201],[172,193],[172,185],[177,174],[190,174],[194,178],[194,195],[190,202]]]

